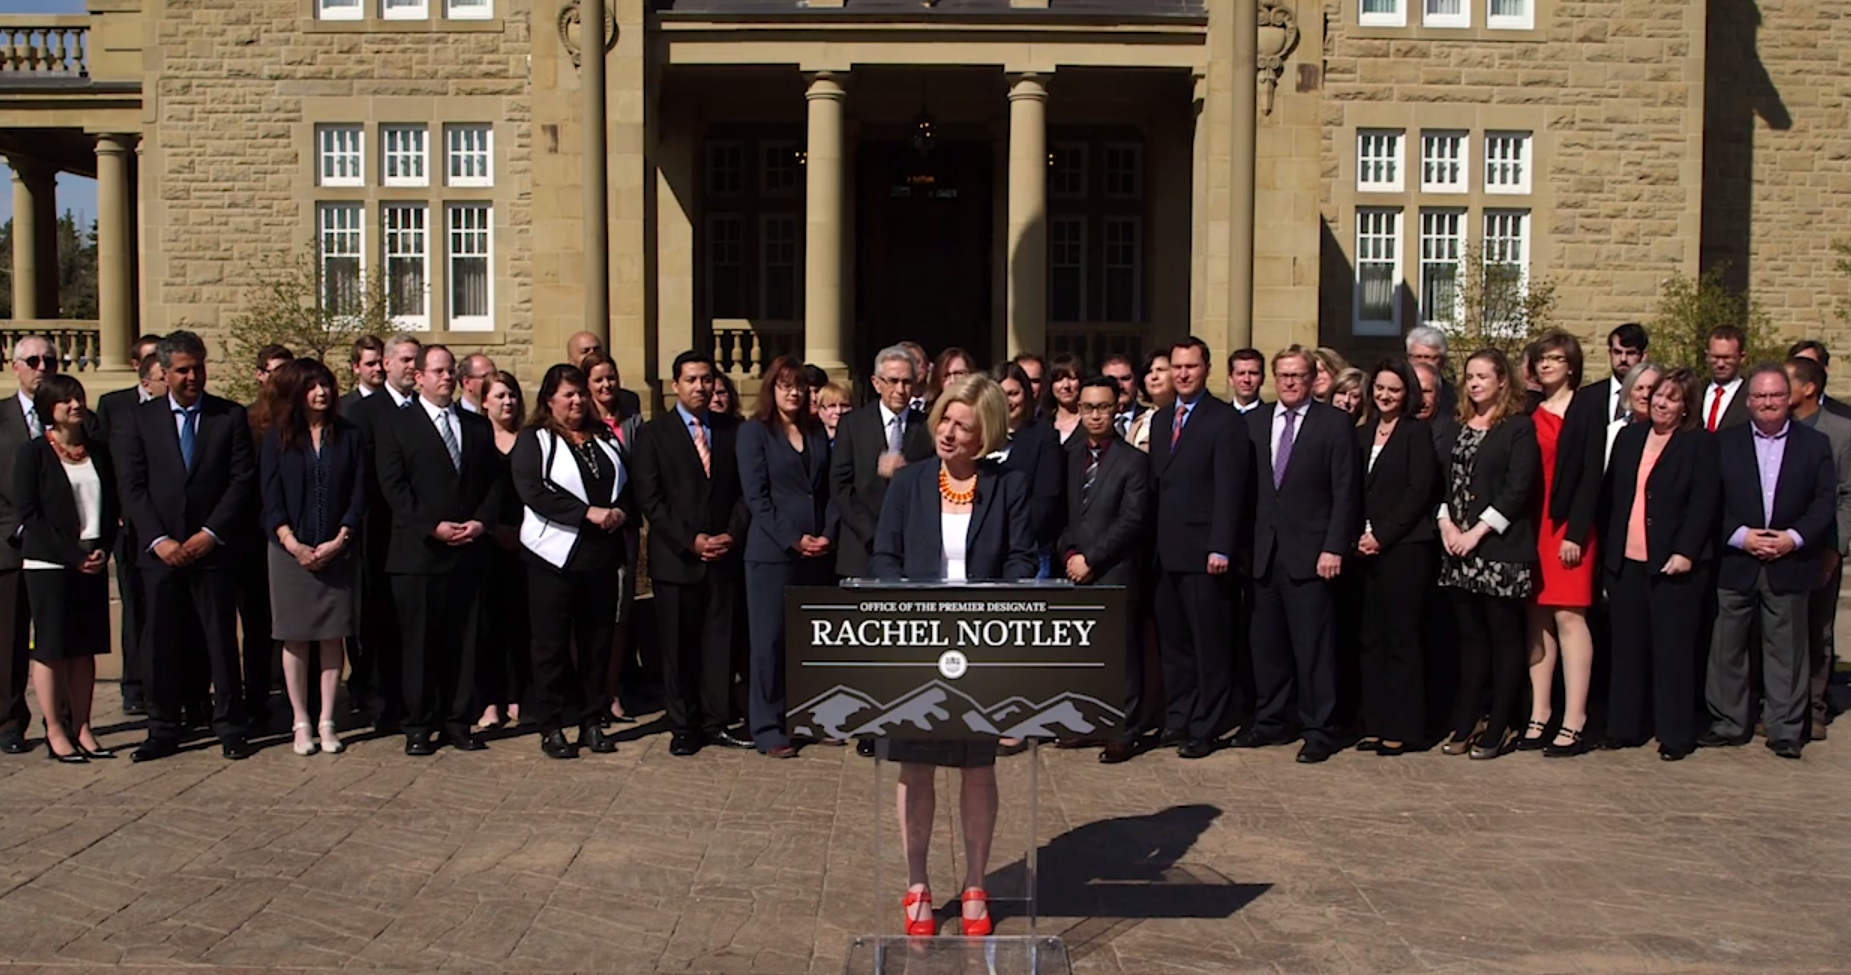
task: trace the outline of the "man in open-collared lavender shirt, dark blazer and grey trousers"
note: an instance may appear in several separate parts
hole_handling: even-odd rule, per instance
[[[1714,346],[1712,346],[1714,348]],[[1749,424],[1718,437],[1725,542],[1705,697],[1714,718],[1699,746],[1753,734],[1749,638],[1760,623],[1760,699],[1768,747],[1799,759],[1807,736],[1807,601],[1838,544],[1838,468],[1831,440],[1790,418],[1790,383],[1760,366],[1745,383]]]

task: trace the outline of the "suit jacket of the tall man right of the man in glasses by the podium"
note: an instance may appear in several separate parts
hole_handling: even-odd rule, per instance
[[[1207,572],[1209,555],[1225,555],[1240,572],[1246,533],[1242,512],[1253,496],[1253,451],[1248,424],[1235,407],[1209,396],[1183,424],[1170,450],[1175,407],[1151,418],[1151,479],[1157,485],[1157,568]]]

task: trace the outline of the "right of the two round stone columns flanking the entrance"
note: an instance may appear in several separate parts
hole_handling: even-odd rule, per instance
[[[1048,85],[1009,85],[1009,355],[1048,348]]]

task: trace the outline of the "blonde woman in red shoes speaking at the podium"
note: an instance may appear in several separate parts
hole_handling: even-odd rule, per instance
[[[1035,577],[1035,537],[1027,485],[983,457],[1009,438],[1009,403],[988,376],[974,374],[946,387],[927,418],[938,463],[907,464],[894,474],[874,533],[872,574],[879,579],[929,583],[1022,581]],[[937,768],[961,770],[964,816],[963,931],[992,931],[983,877],[996,833],[996,740],[892,742],[900,762],[900,834],[907,853],[907,934],[937,934],[926,855],[931,844]]]

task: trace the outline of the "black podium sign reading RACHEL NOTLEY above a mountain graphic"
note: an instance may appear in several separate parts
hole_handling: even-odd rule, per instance
[[[1125,590],[850,585],[785,590],[787,727],[814,738],[1112,738]]]

